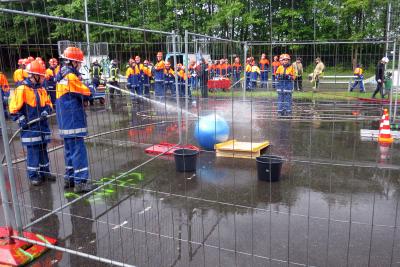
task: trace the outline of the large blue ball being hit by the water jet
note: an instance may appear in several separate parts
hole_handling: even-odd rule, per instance
[[[213,150],[215,144],[228,140],[229,125],[215,114],[200,117],[194,127],[194,136],[202,148]]]

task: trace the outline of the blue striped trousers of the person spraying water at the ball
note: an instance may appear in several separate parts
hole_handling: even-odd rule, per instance
[[[64,138],[65,180],[75,184],[86,183],[89,164],[83,137]]]

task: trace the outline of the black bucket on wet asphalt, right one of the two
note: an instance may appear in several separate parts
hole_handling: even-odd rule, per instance
[[[277,182],[281,176],[283,158],[273,155],[262,155],[256,158],[258,180]]]

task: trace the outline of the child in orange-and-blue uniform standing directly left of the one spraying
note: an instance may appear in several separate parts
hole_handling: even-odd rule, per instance
[[[10,99],[10,114],[21,128],[21,142],[26,146],[27,174],[30,183],[41,185],[44,181],[55,181],[50,173],[47,144],[51,132],[47,116],[53,107],[42,84],[46,69],[39,60],[27,65],[28,78],[13,92]]]

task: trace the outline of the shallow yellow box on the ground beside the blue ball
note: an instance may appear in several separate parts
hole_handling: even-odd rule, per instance
[[[261,143],[228,140],[226,142],[214,145],[214,148],[217,152],[217,157],[251,159],[263,154],[268,146],[268,140]]]

